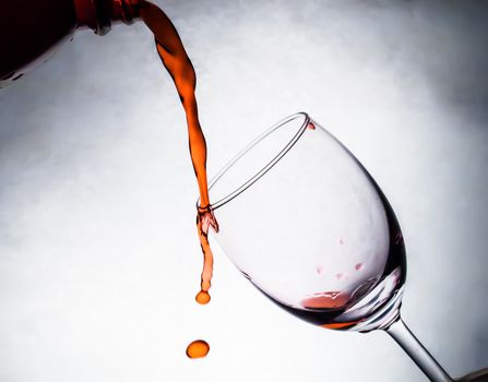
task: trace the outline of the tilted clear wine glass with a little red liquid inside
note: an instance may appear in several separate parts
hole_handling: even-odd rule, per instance
[[[400,317],[405,247],[386,198],[355,156],[299,112],[210,183],[216,241],[289,313],[340,331],[384,330],[431,381],[453,381]],[[488,381],[488,369],[460,381]]]

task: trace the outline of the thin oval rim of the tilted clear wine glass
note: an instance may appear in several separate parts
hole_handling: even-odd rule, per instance
[[[240,152],[238,152],[226,165],[224,165],[221,170],[210,180],[209,182],[209,191],[215,186],[215,183],[249,151],[251,151],[255,145],[258,145],[262,140],[267,138],[271,133],[283,127],[284,124],[296,120],[298,118],[302,118],[300,127],[297,132],[293,135],[293,138],[284,145],[284,147],[271,159],[269,160],[264,167],[262,167],[259,171],[257,171],[251,178],[242,182],[239,187],[237,187],[234,191],[229,192],[224,198],[219,199],[215,203],[211,203],[212,210],[217,210],[223,205],[227,204],[238,195],[240,195],[243,191],[254,184],[259,179],[261,179],[269,170],[271,170],[274,165],[276,165],[285,155],[290,151],[290,148],[297,143],[300,136],[303,134],[311,119],[307,112],[300,111],[288,117],[285,117],[281,121],[274,123],[271,128],[262,132],[255,139],[253,139],[246,147],[243,147]],[[200,198],[197,200],[197,208],[200,206]]]

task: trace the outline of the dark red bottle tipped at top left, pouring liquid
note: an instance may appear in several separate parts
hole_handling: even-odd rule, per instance
[[[2,0],[0,87],[45,61],[76,29],[103,36],[112,22],[136,19],[139,0]]]

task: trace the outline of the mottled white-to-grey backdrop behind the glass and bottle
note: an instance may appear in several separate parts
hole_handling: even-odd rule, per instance
[[[308,111],[376,177],[408,252],[403,317],[453,375],[488,367],[488,4],[158,1],[198,72],[215,172]],[[0,381],[420,381],[384,333],[270,305],[201,254],[185,117],[142,25],[79,32],[0,91]],[[185,356],[203,337],[204,360]]]

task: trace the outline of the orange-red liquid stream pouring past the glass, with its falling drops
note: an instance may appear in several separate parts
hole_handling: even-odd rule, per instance
[[[207,235],[210,227],[218,231],[218,224],[212,212],[209,199],[206,142],[199,121],[195,97],[197,74],[178,32],[169,17],[163,10],[148,1],[141,0],[140,7],[141,19],[154,34],[157,53],[175,83],[187,117],[190,156],[199,184],[201,205],[197,214],[197,229],[203,252],[203,271],[200,284],[201,291],[197,295],[195,300],[205,305],[211,299],[209,289],[213,270],[213,254]],[[209,344],[204,341],[195,341],[189,345],[187,355],[190,358],[205,357],[209,349]]]

